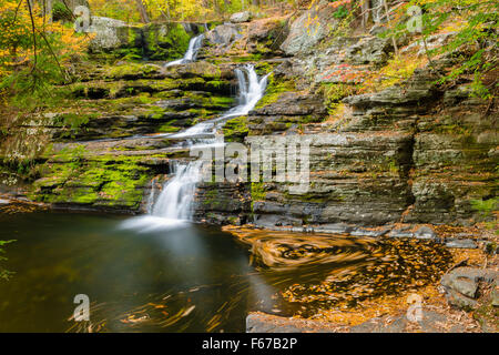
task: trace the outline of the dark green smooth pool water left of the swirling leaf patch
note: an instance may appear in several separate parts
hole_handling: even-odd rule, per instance
[[[247,311],[273,292],[230,234],[138,233],[122,221],[0,215],[0,240],[17,240],[4,247],[16,274],[0,281],[0,332],[244,332]],[[69,321],[77,294],[90,298],[90,322]]]

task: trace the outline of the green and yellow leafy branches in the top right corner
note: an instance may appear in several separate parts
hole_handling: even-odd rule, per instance
[[[422,9],[421,40],[430,62],[437,55],[455,57],[459,64],[441,75],[438,83],[452,82],[464,75],[472,78],[472,95],[491,99],[491,90],[497,89],[497,80],[488,85],[483,83],[485,74],[495,68],[497,62],[495,48],[497,47],[497,1],[481,0],[413,0],[408,7],[419,6]],[[401,11],[405,11],[404,8]],[[411,36],[406,26],[407,17],[399,17],[393,29],[383,37],[401,38]],[[428,48],[430,37],[439,33],[452,32],[446,44]]]

